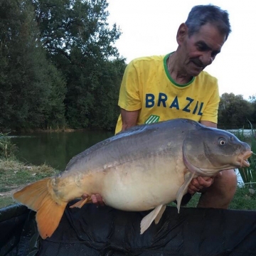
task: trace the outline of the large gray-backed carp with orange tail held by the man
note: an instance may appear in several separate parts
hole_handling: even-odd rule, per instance
[[[37,212],[42,238],[53,234],[69,201],[95,193],[119,210],[154,209],[142,219],[144,233],[159,222],[166,204],[176,200],[179,210],[192,178],[249,166],[251,154],[233,134],[189,119],[145,124],[95,144],[63,173],[26,186],[14,199]],[[74,206],[87,202],[82,198]]]

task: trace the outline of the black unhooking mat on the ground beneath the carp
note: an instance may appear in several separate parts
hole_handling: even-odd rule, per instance
[[[72,205],[74,202],[71,202]],[[66,208],[55,233],[42,240],[35,213],[0,210],[1,256],[256,256],[256,211],[167,207],[159,224],[140,235],[149,212],[87,204]]]

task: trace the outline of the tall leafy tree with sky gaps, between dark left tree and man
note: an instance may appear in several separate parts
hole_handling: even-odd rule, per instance
[[[107,23],[107,1],[33,0],[33,5],[43,46],[67,81],[65,117],[68,125],[113,127],[117,113],[113,110],[117,108],[122,78],[120,70],[124,70],[125,63],[113,46],[120,32],[115,24],[110,28]],[[107,73],[114,77],[107,77]],[[112,91],[107,92],[107,88]],[[103,109],[100,95],[104,95]],[[109,114],[101,115],[101,112]],[[99,122],[101,118],[105,122]]]

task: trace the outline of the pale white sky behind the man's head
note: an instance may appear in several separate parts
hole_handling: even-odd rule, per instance
[[[206,67],[218,78],[220,95],[233,92],[245,100],[256,95],[256,15],[254,0],[108,0],[108,23],[122,35],[115,43],[127,63],[134,58],[165,55],[176,50],[178,26],[198,4],[220,6],[229,13],[232,32],[221,53]]]

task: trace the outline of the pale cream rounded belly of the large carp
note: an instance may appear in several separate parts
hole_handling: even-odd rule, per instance
[[[119,210],[150,210],[176,200],[185,170],[179,160],[127,162],[106,171],[101,195],[108,206]]]

